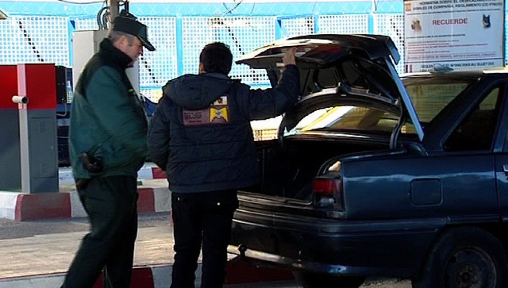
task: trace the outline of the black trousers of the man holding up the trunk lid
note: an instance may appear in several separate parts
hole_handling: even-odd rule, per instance
[[[171,288],[194,288],[203,244],[201,288],[223,287],[236,190],[171,195],[175,263]]]

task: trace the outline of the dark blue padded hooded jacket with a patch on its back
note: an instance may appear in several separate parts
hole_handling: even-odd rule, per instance
[[[251,89],[223,74],[183,75],[163,87],[148,128],[152,161],[174,193],[256,184],[259,164],[250,121],[280,115],[300,91],[295,65],[275,88]]]

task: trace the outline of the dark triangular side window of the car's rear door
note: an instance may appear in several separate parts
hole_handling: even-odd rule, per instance
[[[445,151],[491,149],[496,129],[499,88],[491,90],[484,100],[462,120],[444,142]]]

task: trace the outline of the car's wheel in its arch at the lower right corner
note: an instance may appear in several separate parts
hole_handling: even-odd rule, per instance
[[[508,287],[508,263],[501,242],[478,227],[445,232],[435,243],[413,288]]]

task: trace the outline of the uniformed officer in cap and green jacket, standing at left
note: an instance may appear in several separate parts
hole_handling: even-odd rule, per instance
[[[128,288],[138,231],[137,173],[146,155],[146,116],[125,69],[153,51],[147,28],[122,11],[82,71],[71,108],[69,151],[90,233],[62,287]]]

